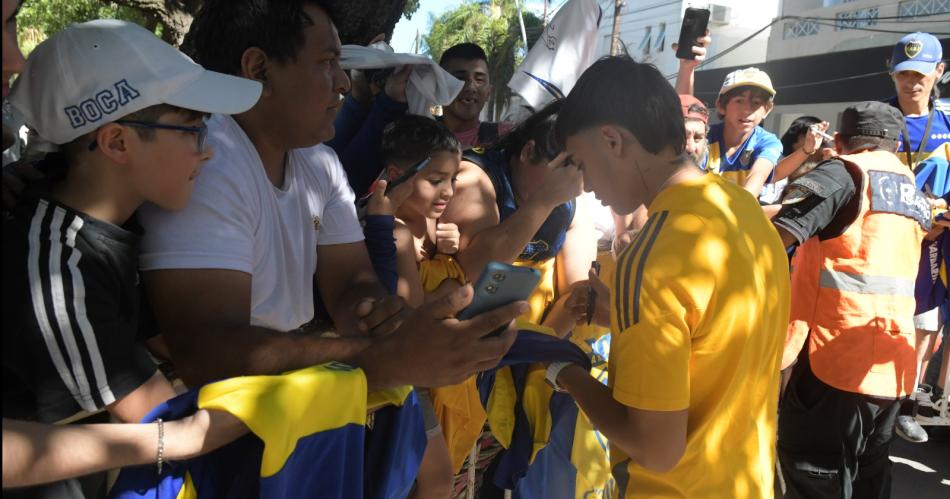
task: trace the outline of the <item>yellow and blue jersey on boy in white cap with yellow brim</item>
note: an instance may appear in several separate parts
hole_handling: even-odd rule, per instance
[[[707,173],[722,175],[744,185],[756,160],[766,159],[773,167],[778,164],[782,156],[782,142],[775,134],[757,126],[742,146],[738,147],[732,156],[728,156],[728,147],[723,143],[723,126],[722,123],[717,123],[709,127],[709,154],[706,155],[706,161],[700,165]]]

